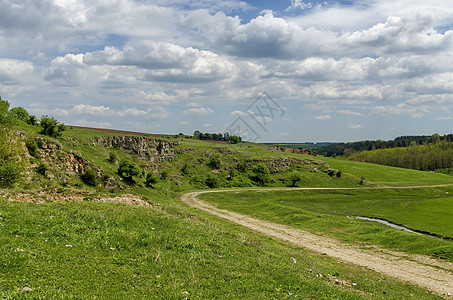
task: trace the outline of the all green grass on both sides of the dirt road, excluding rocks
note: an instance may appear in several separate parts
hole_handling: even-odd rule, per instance
[[[43,137],[36,126],[21,123],[18,129],[27,138]],[[87,142],[107,135],[68,128],[62,137],[48,138],[59,143],[63,152],[76,153],[88,166],[102,169],[101,183],[86,185],[79,176],[64,174],[52,160],[38,155],[28,157],[23,180],[3,190],[35,196],[77,192],[86,197],[81,202],[37,204],[0,196],[0,299],[437,298],[422,288],[232,225],[186,206],[179,197],[211,188],[288,187],[294,173],[300,175],[299,187],[448,184],[451,176],[289,154],[258,144],[215,144],[178,136],[165,138],[180,142],[174,160],[149,162]],[[143,170],[134,184],[125,183],[117,173],[118,162],[126,158]],[[291,166],[278,167],[264,183],[254,181],[253,163],[288,159],[294,160]],[[40,163],[48,165],[45,174],[35,171]],[[328,175],[330,169],[341,171],[341,176]],[[145,184],[149,172],[157,174],[152,186]],[[107,177],[120,186],[105,188],[102,180]],[[362,177],[366,180],[360,183]],[[202,197],[231,210],[346,241],[451,260],[451,241],[345,217],[379,217],[451,237],[447,192],[453,191],[448,187],[250,190]],[[152,207],[93,201],[97,196],[125,193],[141,196]]]

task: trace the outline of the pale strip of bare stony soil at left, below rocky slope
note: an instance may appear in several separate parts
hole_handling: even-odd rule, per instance
[[[132,194],[120,196],[93,195],[80,191],[59,191],[58,189],[32,193],[11,193],[0,190],[0,196],[9,201],[32,202],[36,204],[46,202],[73,202],[73,201],[93,201],[93,202],[118,202],[129,205],[152,206],[150,203]]]

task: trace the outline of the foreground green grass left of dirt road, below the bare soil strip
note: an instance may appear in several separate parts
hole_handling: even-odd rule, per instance
[[[0,213],[2,299],[436,298],[182,211],[0,199]]]

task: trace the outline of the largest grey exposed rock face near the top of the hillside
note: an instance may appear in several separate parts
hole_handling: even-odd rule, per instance
[[[95,137],[90,140],[95,146],[118,148],[121,151],[137,155],[151,162],[173,160],[174,151],[171,149],[179,142],[152,139],[143,136],[106,136]]]

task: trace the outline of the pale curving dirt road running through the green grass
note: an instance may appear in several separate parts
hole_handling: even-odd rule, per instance
[[[292,188],[291,190],[295,189]],[[346,244],[334,238],[316,235],[301,229],[295,229],[289,226],[275,224],[255,219],[247,215],[219,209],[214,205],[205,203],[197,198],[198,195],[203,193],[228,191],[237,192],[240,190],[192,192],[182,195],[181,200],[194,208],[201,209],[217,217],[250,228],[256,232],[289,242],[292,245],[325,253],[342,261],[364,266],[382,274],[419,285],[448,299],[453,295],[453,263],[438,261],[422,255],[410,255],[402,252],[388,251],[379,249],[378,247],[370,247],[370,249],[366,250],[361,249],[355,245]]]

